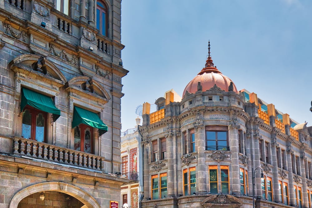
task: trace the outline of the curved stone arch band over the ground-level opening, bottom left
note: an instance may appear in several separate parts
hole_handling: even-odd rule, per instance
[[[28,186],[21,191],[18,191],[12,198],[9,208],[17,208],[19,202],[34,193],[41,191],[58,191],[66,193],[70,196],[75,197],[79,201],[85,204],[83,207],[87,208],[100,208],[100,204],[86,191],[80,189],[77,186],[73,186],[63,182],[43,182],[37,183],[32,186]]]

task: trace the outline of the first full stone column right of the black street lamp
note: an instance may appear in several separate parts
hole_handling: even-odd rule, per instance
[[[280,203],[280,195],[279,195],[279,184],[278,184],[278,164],[277,164],[277,154],[276,154],[276,148],[278,147],[278,144],[276,142],[276,132],[273,129],[271,133],[271,148],[272,148],[272,162],[273,162],[273,194],[274,194],[274,201],[277,203]]]

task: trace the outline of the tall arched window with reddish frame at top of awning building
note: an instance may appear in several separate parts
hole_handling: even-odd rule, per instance
[[[100,34],[107,36],[107,7],[100,1],[96,4],[96,29],[100,30]]]

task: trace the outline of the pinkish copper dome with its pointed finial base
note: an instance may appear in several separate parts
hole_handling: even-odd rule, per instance
[[[188,83],[188,85],[186,85],[182,97],[184,97],[186,91],[188,91],[189,93],[195,93],[197,91],[198,82],[200,82],[200,84],[202,85],[203,92],[211,89],[214,85],[217,85],[217,87],[220,87],[222,90],[229,91],[228,89],[232,80],[227,76],[223,75],[221,71],[219,71],[217,67],[213,64],[210,56],[210,50],[205,67],[198,73],[196,77],[193,78],[193,80]],[[237,93],[237,89],[234,83],[233,91]]]

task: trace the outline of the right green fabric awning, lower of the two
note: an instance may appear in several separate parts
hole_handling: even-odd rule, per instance
[[[101,121],[98,114],[88,111],[83,108],[79,108],[74,106],[74,115],[73,115],[73,122],[71,123],[71,128],[75,128],[80,123],[84,123],[88,126],[98,128],[100,136],[107,132],[107,126],[103,121]]]

